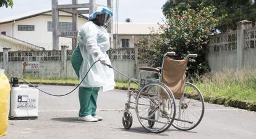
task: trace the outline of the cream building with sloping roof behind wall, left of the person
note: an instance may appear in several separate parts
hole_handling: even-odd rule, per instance
[[[88,22],[88,18],[79,15],[77,22],[80,28],[83,23]],[[59,11],[59,29],[72,30],[72,14]],[[0,19],[0,33],[35,46],[44,47],[46,50],[52,50],[51,10],[36,10],[28,14]],[[72,49],[72,39],[60,37],[59,49],[62,45],[70,46],[69,49]]]

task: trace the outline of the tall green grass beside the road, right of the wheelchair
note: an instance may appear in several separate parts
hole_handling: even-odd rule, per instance
[[[248,101],[256,104],[256,71],[225,71],[200,77],[196,82],[204,97]],[[228,101],[227,101],[228,102]]]

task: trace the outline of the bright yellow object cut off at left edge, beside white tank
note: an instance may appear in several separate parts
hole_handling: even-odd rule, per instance
[[[7,133],[10,91],[8,78],[0,72],[0,137]]]

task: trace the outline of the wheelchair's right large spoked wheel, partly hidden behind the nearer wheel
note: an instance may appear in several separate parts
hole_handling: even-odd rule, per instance
[[[184,94],[176,100],[176,116],[173,126],[179,130],[191,130],[202,121],[205,111],[203,95],[194,84],[185,83]]]

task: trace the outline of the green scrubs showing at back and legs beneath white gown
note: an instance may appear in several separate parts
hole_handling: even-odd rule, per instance
[[[79,46],[74,50],[71,55],[71,64],[75,70],[75,74],[79,78],[79,70],[83,62],[83,57],[81,55]],[[96,101],[98,97],[98,91],[100,87],[79,87],[79,102],[80,102],[80,110],[79,116],[88,116],[96,115]]]

